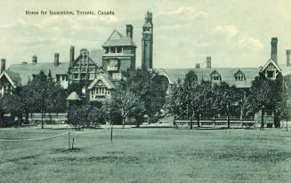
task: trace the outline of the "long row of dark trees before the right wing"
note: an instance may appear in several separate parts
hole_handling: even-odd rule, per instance
[[[198,127],[201,116],[213,118],[221,115],[227,117],[230,128],[230,116],[253,118],[255,113],[262,112],[261,126],[264,126],[265,112],[274,116],[274,125],[279,127],[280,120],[290,120],[291,115],[291,79],[270,80],[257,76],[250,89],[238,89],[227,83],[198,81],[194,71],[178,80],[167,97],[166,111],[174,119],[189,119],[192,128],[193,119]],[[289,81],[289,82],[288,82]]]

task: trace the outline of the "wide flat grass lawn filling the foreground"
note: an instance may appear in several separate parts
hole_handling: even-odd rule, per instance
[[[0,129],[0,139],[69,130]],[[92,130],[90,130],[92,131]],[[0,142],[0,182],[291,182],[283,129],[114,129],[32,142]]]

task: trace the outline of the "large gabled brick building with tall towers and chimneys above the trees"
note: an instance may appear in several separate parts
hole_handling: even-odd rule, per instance
[[[274,80],[291,74],[290,50],[287,50],[287,63],[279,65],[277,57],[278,38],[271,38],[271,59],[262,62],[263,67],[257,68],[212,68],[212,58],[206,57],[205,66],[196,64],[193,68],[153,68],[153,20],[152,13],[147,12],[142,26],[141,38],[141,68],[157,70],[165,76],[169,84],[174,84],[190,70],[197,74],[198,81],[209,80],[214,83],[222,81],[235,85],[240,89],[241,99],[246,98],[255,76],[264,75]],[[5,69],[5,60],[1,60],[0,96],[10,92],[12,88],[25,85],[28,80],[41,70],[51,72],[53,79],[64,89],[77,84],[79,91],[73,93],[76,99],[87,97],[90,101],[109,99],[118,82],[124,77],[124,72],[134,70],[136,66],[136,44],[133,42],[133,26],[126,25],[125,36],[116,29],[101,45],[102,50],[89,52],[82,49],[75,58],[75,47],[69,49],[69,61],[61,62],[59,53],[54,54],[54,60],[38,63],[36,56],[31,63],[12,64]],[[193,64],[194,65],[194,64]],[[77,95],[76,95],[77,94]],[[71,95],[69,95],[71,96]]]

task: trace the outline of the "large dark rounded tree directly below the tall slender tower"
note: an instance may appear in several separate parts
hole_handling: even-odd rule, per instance
[[[162,76],[155,71],[137,69],[128,74],[127,87],[144,103],[146,115],[149,115],[150,120],[158,116],[166,103],[168,88]]]

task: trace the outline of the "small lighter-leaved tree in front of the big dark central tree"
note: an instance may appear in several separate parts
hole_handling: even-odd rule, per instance
[[[135,117],[140,119],[142,114],[143,102],[131,91],[117,90],[112,98],[112,111],[122,116],[122,125],[125,127],[125,119],[127,117]],[[135,114],[137,113],[137,114]],[[137,122],[139,123],[139,122]]]

